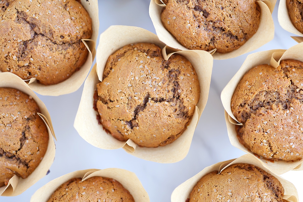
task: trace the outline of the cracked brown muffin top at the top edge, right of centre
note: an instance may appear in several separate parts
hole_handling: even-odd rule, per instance
[[[188,49],[228,53],[238,49],[259,27],[256,0],[166,0],[164,27]]]

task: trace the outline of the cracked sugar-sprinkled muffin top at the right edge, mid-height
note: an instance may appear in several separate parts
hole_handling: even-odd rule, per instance
[[[240,142],[253,153],[275,161],[302,159],[303,62],[250,69],[235,89],[231,110],[243,124],[236,127]]]

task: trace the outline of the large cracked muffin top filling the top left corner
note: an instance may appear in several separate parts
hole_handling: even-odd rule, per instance
[[[92,20],[75,0],[0,1],[0,70],[41,84],[69,78],[86,61]]]

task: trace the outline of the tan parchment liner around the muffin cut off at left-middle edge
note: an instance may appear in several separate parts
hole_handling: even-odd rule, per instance
[[[32,96],[41,110],[41,114],[38,114],[43,119],[48,129],[48,147],[42,161],[38,167],[36,167],[35,171],[33,171],[32,174],[25,179],[14,175],[9,180],[7,186],[0,187],[0,196],[16,196],[27,190],[46,175],[55,158],[55,143],[53,137],[56,137],[52,126],[51,117],[47,108],[45,107],[45,104],[20,77],[10,72],[2,72],[0,73],[0,87],[15,88]]]

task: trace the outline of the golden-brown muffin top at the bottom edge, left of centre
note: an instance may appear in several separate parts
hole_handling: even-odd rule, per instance
[[[117,180],[107,177],[91,177],[81,181],[73,178],[63,183],[47,202],[134,202],[132,195]]]

